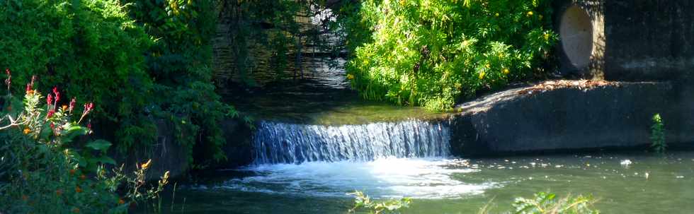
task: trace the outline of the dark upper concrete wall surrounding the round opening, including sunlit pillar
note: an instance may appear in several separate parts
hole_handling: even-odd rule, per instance
[[[590,64],[574,66],[567,56],[576,49],[559,44],[557,49],[565,75],[610,81],[677,80],[691,76],[694,1],[555,1],[557,32],[562,30],[562,17],[571,6],[579,6],[591,17],[593,47]]]

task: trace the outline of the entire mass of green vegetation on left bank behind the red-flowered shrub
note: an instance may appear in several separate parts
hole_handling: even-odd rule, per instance
[[[151,145],[163,118],[191,161],[193,151],[205,154],[200,162],[222,160],[217,124],[236,112],[212,85],[213,3],[3,1],[0,66],[17,83],[38,75],[38,89],[64,85],[67,97],[96,103],[95,123],[124,153]]]

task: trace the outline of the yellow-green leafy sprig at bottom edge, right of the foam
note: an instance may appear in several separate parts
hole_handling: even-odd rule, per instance
[[[577,196],[557,199],[555,194],[539,192],[534,198],[516,198],[515,214],[598,214],[592,208],[592,197]]]

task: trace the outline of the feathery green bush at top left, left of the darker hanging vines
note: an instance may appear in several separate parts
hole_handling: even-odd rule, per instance
[[[9,0],[0,6],[0,66],[14,80],[36,88],[64,85],[65,97],[97,103],[99,120],[114,130],[142,127],[133,121],[142,109],[152,80],[144,71],[143,53],[152,40],[117,0]],[[24,90],[13,85],[13,92]],[[141,131],[144,138],[152,130]]]

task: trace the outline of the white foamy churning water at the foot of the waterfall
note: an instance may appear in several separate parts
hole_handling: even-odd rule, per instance
[[[465,165],[465,160],[442,157],[256,165],[244,169],[256,175],[212,188],[302,196],[346,196],[358,190],[375,198],[462,198],[495,186],[461,181],[462,174],[475,172]]]

